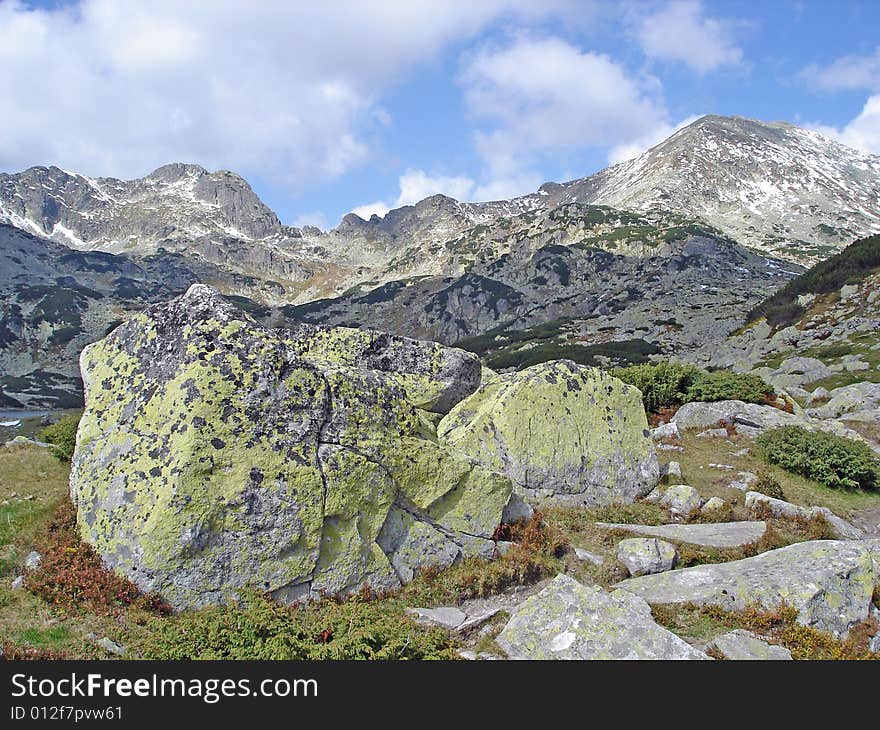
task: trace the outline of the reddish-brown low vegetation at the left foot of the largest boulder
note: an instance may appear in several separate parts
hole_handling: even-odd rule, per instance
[[[142,594],[134,583],[104,567],[94,549],[79,539],[76,511],[69,500],[55,512],[42,536],[40,552],[40,566],[27,574],[25,587],[47,603],[101,614],[128,605],[170,612],[158,596]]]

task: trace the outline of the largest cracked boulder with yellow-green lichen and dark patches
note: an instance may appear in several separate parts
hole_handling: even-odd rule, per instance
[[[176,608],[247,586],[284,601],[390,588],[493,552],[509,479],[438,443],[415,405],[476,387],[469,356],[267,329],[195,285],[86,348],[81,368],[80,532]]]

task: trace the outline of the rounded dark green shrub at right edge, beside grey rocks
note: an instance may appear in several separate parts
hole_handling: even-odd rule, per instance
[[[874,489],[880,481],[880,462],[859,441],[784,426],[761,434],[756,443],[768,463],[827,487]]]

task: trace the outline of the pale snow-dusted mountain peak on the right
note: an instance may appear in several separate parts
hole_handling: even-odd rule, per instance
[[[555,202],[673,210],[795,261],[880,231],[880,157],[742,117],[702,117],[632,160],[542,189]]]

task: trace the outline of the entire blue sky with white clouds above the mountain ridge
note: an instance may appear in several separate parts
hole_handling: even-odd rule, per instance
[[[511,197],[701,114],[880,154],[880,2],[0,0],[0,170],[232,169],[285,223]]]

